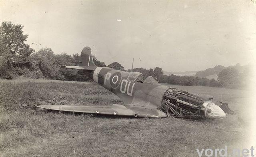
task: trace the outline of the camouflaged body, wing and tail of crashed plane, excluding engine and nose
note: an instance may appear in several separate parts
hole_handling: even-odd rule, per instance
[[[161,100],[166,89],[158,83],[141,83],[130,81],[130,72],[113,70],[108,67],[97,67],[92,60],[91,49],[85,47],[81,52],[79,66],[61,66],[61,68],[84,70],[90,79],[120,97],[124,105],[109,106],[75,106],[75,105],[40,105],[43,109],[98,113],[110,115],[128,115],[134,117],[167,117]],[[138,72],[133,72],[134,76]]]

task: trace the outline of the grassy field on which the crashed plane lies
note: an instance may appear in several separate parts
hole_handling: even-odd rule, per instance
[[[169,85],[170,86],[170,85]],[[0,81],[0,156],[197,157],[196,148],[247,146],[247,91],[214,87],[178,89],[227,102],[236,115],[214,121],[129,118],[44,112],[45,104],[108,105],[122,100],[95,83]],[[239,118],[244,121],[238,121]]]

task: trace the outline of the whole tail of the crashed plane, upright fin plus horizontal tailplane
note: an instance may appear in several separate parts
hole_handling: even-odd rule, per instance
[[[92,52],[91,48],[85,47],[80,56],[79,66],[61,66],[60,68],[67,68],[67,69],[78,69],[78,70],[95,70],[96,65],[92,59]]]

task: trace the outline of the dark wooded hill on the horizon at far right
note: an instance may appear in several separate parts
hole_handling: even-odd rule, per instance
[[[235,68],[236,70],[238,70],[239,73],[243,73],[244,69],[247,66],[240,66],[240,64],[236,64],[235,66],[228,66],[228,67],[224,67],[221,65],[215,66],[214,68],[208,68],[204,71],[199,71],[196,73],[196,77],[206,77],[206,78],[217,78],[217,74],[219,74],[219,72],[221,72],[222,70],[226,69],[226,68]]]

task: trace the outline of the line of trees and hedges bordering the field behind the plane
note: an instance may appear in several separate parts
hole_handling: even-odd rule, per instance
[[[35,51],[24,42],[28,34],[23,34],[23,26],[2,22],[0,26],[0,78],[16,79],[20,76],[32,79],[55,79],[88,81],[89,78],[83,71],[62,69],[62,65],[78,65],[80,55],[78,53],[69,55],[66,53],[55,54],[50,48],[41,48]],[[104,62],[93,56],[96,66],[106,67]],[[108,65],[116,70],[124,70],[118,62]],[[134,72],[140,72],[144,78],[153,76],[160,83],[176,85],[202,85],[211,87],[240,87],[245,81],[247,73],[239,74],[234,69],[225,69],[218,74],[218,80],[206,79],[193,76],[164,75],[162,68],[156,67],[149,70],[145,68],[134,68]]]

